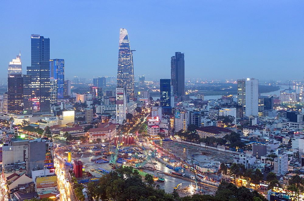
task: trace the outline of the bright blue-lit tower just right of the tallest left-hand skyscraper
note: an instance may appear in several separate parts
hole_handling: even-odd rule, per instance
[[[50,77],[57,80],[57,99],[64,96],[64,59],[50,60]]]

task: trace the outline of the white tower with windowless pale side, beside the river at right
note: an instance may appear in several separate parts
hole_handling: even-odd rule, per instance
[[[243,116],[258,116],[258,84],[254,78],[237,80],[237,103]]]

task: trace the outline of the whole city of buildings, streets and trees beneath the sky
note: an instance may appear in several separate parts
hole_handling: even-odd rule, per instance
[[[304,80],[185,78],[178,51],[135,76],[124,28],[117,75],[67,78],[30,36],[0,80],[1,200],[304,199]]]

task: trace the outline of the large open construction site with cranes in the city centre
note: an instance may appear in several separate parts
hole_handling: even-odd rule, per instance
[[[173,189],[177,189],[180,196],[195,193],[214,194],[220,178],[216,173],[201,173],[201,176],[206,177],[199,178],[197,176],[195,181],[195,173],[190,166],[185,168],[185,164],[174,159],[171,155],[185,160],[192,159],[193,163],[200,166],[210,166],[211,164],[218,166],[219,161],[229,161],[233,158],[228,153],[219,153],[216,150],[189,146],[174,141],[157,143],[158,146],[168,150],[171,154],[161,152],[151,142],[146,143],[140,140],[137,142],[137,144],[119,148],[114,148],[113,145],[109,147],[109,144],[76,145],[70,146],[58,154],[60,157],[68,159],[70,152],[71,161],[81,161],[85,172],[88,173],[85,176],[92,175],[94,178],[100,178],[118,166],[132,166],[143,177],[147,173],[153,175],[154,181],[166,192],[171,193]],[[81,182],[85,179],[87,178],[79,178]]]

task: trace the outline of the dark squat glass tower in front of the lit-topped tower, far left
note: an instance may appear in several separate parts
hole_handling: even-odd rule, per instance
[[[3,96],[4,113],[20,113],[23,111],[23,77],[11,74],[7,78],[7,94]]]

